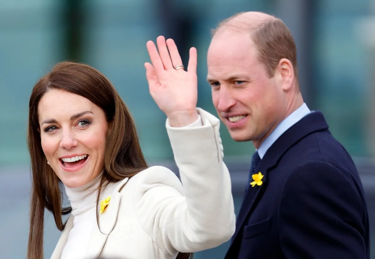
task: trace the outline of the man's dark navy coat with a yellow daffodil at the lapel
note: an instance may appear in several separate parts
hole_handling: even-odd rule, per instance
[[[225,259],[369,258],[363,186],[321,112],[294,124],[267,150],[249,186]]]

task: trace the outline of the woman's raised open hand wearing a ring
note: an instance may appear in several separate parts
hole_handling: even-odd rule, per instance
[[[146,44],[152,63],[144,64],[150,94],[168,117],[171,126],[186,126],[198,118],[196,49],[190,48],[189,64],[185,71],[174,40],[159,36],[156,42],[159,52],[153,41]]]

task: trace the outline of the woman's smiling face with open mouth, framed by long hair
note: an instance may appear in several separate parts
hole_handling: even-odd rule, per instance
[[[104,168],[104,111],[83,96],[52,89],[40,99],[38,115],[43,152],[63,184],[94,180]]]

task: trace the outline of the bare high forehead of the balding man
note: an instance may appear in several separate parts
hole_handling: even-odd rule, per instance
[[[258,51],[249,34],[223,32],[211,40],[207,52],[208,76],[260,67]]]

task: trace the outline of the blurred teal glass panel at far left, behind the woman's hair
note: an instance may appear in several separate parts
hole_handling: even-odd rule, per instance
[[[0,0],[0,166],[28,163],[28,98],[58,58],[57,3]]]

